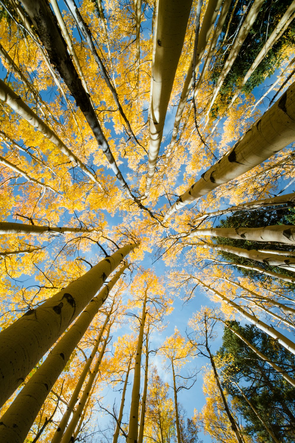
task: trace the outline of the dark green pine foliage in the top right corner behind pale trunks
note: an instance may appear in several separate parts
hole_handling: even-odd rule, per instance
[[[229,32],[224,40],[226,34],[227,24],[229,23],[230,15],[233,11],[235,2],[233,1],[230,5],[229,12],[227,14],[224,26],[222,29],[220,44],[218,47],[218,54],[212,60],[212,80],[213,84],[217,82],[218,77],[222,71],[222,67],[228,57],[230,50],[232,48],[233,41],[238,34],[244,19],[244,11],[247,12],[253,4],[253,0],[239,0],[237,7],[234,11],[234,16],[230,24]],[[290,6],[291,0],[265,0],[260,12],[258,13],[257,19],[255,20],[249,35],[246,37],[240,52],[234,65],[227,75],[222,88],[218,94],[220,100],[215,101],[211,112],[213,117],[217,117],[219,109],[218,103],[223,103],[227,105],[230,103],[231,97],[233,96],[234,90],[239,85],[241,80],[245,77],[253,61],[261,51],[264,43],[272,31],[275,29],[280,18],[284,15],[287,8]],[[251,92],[255,86],[260,85],[264,82],[266,77],[270,77],[277,68],[279,68],[284,59],[281,58],[280,53],[286,43],[295,47],[295,26],[294,20],[287,27],[287,30],[280,37],[280,39],[273,45],[272,49],[268,52],[267,56],[262,60],[256,70],[253,72],[251,77],[246,82],[243,91],[246,93]]]

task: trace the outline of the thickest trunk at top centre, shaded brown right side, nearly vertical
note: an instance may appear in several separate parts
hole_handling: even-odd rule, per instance
[[[149,194],[155,173],[165,117],[184,44],[192,0],[186,0],[182,4],[181,9],[178,6],[179,4],[176,0],[159,1],[155,58],[151,78],[152,102],[149,115],[149,161],[146,196]]]

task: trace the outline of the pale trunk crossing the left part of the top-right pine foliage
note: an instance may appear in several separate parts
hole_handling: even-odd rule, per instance
[[[211,98],[211,101],[209,101],[210,105],[209,105],[209,108],[207,109],[207,118],[209,117],[209,113],[210,113],[211,108],[215,102],[217,94],[220,91],[227,75],[230,73],[230,70],[234,64],[234,61],[238,57],[239,51],[242,47],[242,44],[244,43],[246,37],[248,36],[249,31],[252,28],[253,23],[255,22],[257,15],[258,15],[263,3],[264,3],[264,0],[255,0],[253,2],[253,5],[251,6],[247,16],[245,17],[244,23],[241,26],[238,36],[235,39],[234,44],[231,48],[230,54],[228,55],[226,62],[223,66],[222,72],[219,75],[219,78],[216,82],[215,88],[213,90],[213,97]]]

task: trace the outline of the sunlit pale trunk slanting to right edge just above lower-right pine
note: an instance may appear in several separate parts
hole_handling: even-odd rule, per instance
[[[286,348],[292,354],[295,354],[295,343],[289,340],[287,337],[285,337],[284,334],[281,334],[280,332],[276,331],[272,326],[269,326],[266,323],[262,322],[261,320],[257,319],[257,317],[255,317],[254,315],[249,314],[240,305],[234,303],[233,301],[228,299],[225,295],[222,295],[220,292],[216,291],[216,289],[211,288],[210,286],[203,283],[201,280],[197,278],[195,278],[195,280],[199,281],[199,283],[204,288],[207,288],[208,291],[212,292],[224,303],[232,307],[235,311],[238,311],[245,319],[249,320],[249,322],[255,325],[258,329],[262,330],[270,337],[274,338],[277,342],[280,343],[280,345],[284,346],[284,348]]]

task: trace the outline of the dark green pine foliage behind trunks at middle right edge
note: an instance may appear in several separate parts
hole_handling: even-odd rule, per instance
[[[276,208],[267,208],[261,210],[241,210],[236,211],[229,217],[219,222],[218,228],[260,228],[263,226],[270,225],[292,225],[294,224],[294,210],[293,208],[288,208],[287,206],[276,206]],[[238,240],[234,238],[224,238],[224,237],[212,237],[212,241],[217,243],[218,245],[228,245],[235,246],[237,248],[243,249],[273,249],[275,251],[295,251],[295,247],[293,245],[285,245],[276,242],[262,242],[262,241],[247,241],[247,240]],[[239,257],[237,255],[218,251],[218,254],[222,256],[222,258],[226,261],[232,263],[239,264],[247,264],[250,266],[259,266],[267,271],[279,272],[280,274],[284,274],[286,276],[294,277],[294,272],[288,271],[284,268],[269,266],[268,264],[261,263],[258,261],[249,260],[244,257]],[[238,272],[241,272],[245,276],[250,276],[254,280],[260,280],[262,283],[269,282],[272,280],[272,277],[265,276],[263,274],[259,274],[256,271],[236,268]],[[280,280],[282,284],[286,287],[290,287],[291,289],[295,288],[294,284],[283,282]]]

